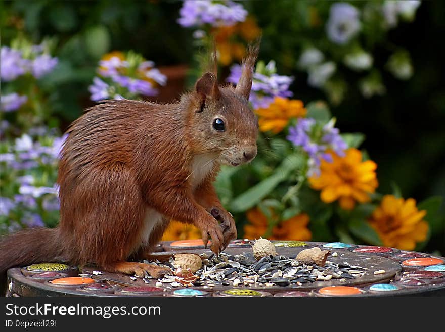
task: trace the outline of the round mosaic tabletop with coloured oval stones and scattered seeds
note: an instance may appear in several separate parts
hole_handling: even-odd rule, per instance
[[[42,262],[8,271],[7,296],[404,296],[445,295],[445,258],[340,242],[272,241],[276,255],[256,260],[252,241],[235,240],[220,255],[202,240],[163,242],[150,263],[170,267],[160,279],[101,271],[93,265]],[[324,266],[303,264],[304,249],[329,250]],[[174,268],[178,253],[200,256],[194,271]],[[171,256],[168,259],[168,256]],[[162,259],[161,259],[162,257]],[[167,258],[165,258],[167,257]],[[147,263],[147,261],[146,261]]]

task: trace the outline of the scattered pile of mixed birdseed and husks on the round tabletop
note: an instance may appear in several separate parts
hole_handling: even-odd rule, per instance
[[[212,288],[222,286],[243,287],[274,287],[274,286],[302,286],[315,281],[338,279],[355,279],[365,274],[367,268],[353,266],[347,262],[333,263],[326,261],[324,267],[303,264],[295,258],[283,255],[263,257],[256,260],[252,253],[229,255],[224,252],[219,255],[200,255],[203,266],[192,273],[173,267],[173,258],[169,263],[159,263],[159,266],[169,267],[174,275],[167,275],[158,279],[156,286],[164,287],[203,287]],[[152,262],[151,262],[152,263]]]

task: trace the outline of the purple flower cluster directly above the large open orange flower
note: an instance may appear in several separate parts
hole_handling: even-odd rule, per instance
[[[308,176],[320,174],[322,159],[332,162],[332,156],[327,150],[333,150],[337,155],[344,156],[344,150],[347,149],[339,130],[334,128],[334,120],[320,128],[314,119],[298,119],[297,124],[289,128],[286,138],[307,153]]]

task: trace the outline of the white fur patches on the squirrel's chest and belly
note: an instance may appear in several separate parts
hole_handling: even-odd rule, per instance
[[[189,177],[189,181],[192,190],[201,184],[202,180],[210,173],[213,169],[214,162],[212,161],[216,156],[214,154],[201,154],[193,158],[192,171]],[[141,238],[143,243],[147,243],[150,239],[150,234],[158,223],[162,221],[164,216],[152,208],[145,209],[144,218],[144,230],[142,232]]]

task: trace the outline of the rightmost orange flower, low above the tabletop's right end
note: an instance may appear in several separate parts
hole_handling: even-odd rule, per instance
[[[368,220],[387,247],[413,250],[416,242],[426,240],[428,223],[425,210],[419,211],[412,198],[404,200],[385,195]]]

